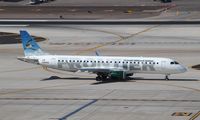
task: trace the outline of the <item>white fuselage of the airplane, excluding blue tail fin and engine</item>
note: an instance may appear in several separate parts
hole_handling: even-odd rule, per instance
[[[156,57],[111,57],[111,56],[64,56],[43,55],[28,56],[27,59],[38,59],[38,64],[64,71],[76,72],[90,69],[121,70],[129,73],[177,74],[187,69],[169,58]]]

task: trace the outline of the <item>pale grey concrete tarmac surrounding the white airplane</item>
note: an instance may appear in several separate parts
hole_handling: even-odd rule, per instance
[[[17,60],[21,44],[0,45],[0,119],[200,120],[200,25],[16,25],[44,37],[51,54],[167,57],[188,67],[171,75],[134,74],[128,81],[96,82]]]

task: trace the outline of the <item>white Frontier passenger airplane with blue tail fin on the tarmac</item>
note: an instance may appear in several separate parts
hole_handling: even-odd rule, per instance
[[[97,81],[126,80],[135,73],[163,74],[169,80],[169,75],[187,71],[185,66],[169,58],[51,55],[27,31],[20,30],[20,36],[25,56],[18,60],[57,70],[94,73]]]

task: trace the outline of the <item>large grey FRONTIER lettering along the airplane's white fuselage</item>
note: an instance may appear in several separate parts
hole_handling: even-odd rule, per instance
[[[113,67],[117,69],[125,69],[130,71],[155,71],[155,65],[159,64],[153,60],[78,60],[78,59],[68,59],[68,60],[58,60],[58,68],[66,68],[69,70],[76,71],[80,68],[87,67]]]

